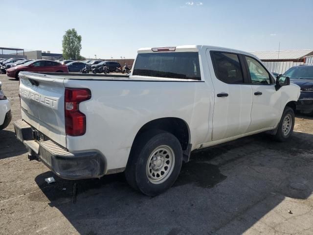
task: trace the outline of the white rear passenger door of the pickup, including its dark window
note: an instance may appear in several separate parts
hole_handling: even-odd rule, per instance
[[[206,56],[214,86],[212,141],[245,134],[251,122],[252,88],[239,54],[209,51]]]

